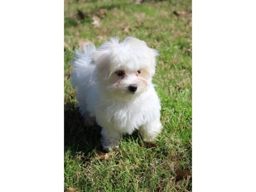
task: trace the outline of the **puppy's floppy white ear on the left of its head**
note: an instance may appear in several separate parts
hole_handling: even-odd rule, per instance
[[[111,51],[113,47],[118,45],[119,38],[113,37],[109,41],[102,44],[101,47],[96,49],[93,54],[93,61],[96,64],[96,68],[101,77],[106,80],[111,76],[112,65],[110,63]]]

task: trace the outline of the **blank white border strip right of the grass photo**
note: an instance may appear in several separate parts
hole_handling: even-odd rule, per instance
[[[256,3],[192,1],[192,189],[253,191]]]

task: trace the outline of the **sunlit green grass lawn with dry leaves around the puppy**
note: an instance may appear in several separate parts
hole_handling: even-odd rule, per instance
[[[192,2],[65,0],[64,188],[96,191],[192,191]],[[93,15],[96,20],[93,25]],[[100,20],[99,20],[100,19]],[[99,21],[99,22],[97,22]],[[106,153],[100,127],[84,126],[70,83],[73,50],[86,42],[99,47],[111,36],[134,36],[160,51],[153,78],[161,99],[163,131],[143,145],[138,132]]]

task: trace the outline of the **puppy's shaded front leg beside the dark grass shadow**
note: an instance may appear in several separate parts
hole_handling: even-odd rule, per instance
[[[102,146],[104,149],[111,150],[118,148],[119,140],[122,139],[122,134],[114,129],[103,128],[101,131],[102,135]]]

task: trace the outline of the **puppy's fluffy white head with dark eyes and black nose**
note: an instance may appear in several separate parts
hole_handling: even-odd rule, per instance
[[[147,90],[155,74],[157,55],[137,38],[128,37],[120,43],[118,38],[110,38],[96,49],[93,60],[102,87],[126,100]]]

